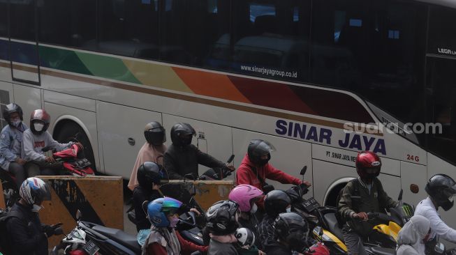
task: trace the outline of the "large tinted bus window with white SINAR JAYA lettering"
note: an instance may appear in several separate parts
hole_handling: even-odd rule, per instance
[[[312,82],[355,91],[404,123],[424,121],[425,6],[337,0],[314,10]]]

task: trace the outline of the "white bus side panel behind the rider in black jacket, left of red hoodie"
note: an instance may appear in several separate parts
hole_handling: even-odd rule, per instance
[[[171,144],[171,127],[176,123],[181,122],[189,123],[195,129],[196,137],[193,137],[191,143],[197,146],[204,153],[208,153],[222,162],[226,162],[230,155],[233,154],[231,127],[163,114],[162,124],[167,133],[166,146],[170,146]],[[201,175],[207,171],[207,169],[209,168],[200,164],[198,167],[199,174]],[[233,175],[227,179],[233,180]]]

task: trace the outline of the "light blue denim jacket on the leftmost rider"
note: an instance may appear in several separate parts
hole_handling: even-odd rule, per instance
[[[20,129],[6,125],[0,133],[0,167],[8,171],[10,162],[20,157],[22,134],[27,130],[27,125],[21,123]]]

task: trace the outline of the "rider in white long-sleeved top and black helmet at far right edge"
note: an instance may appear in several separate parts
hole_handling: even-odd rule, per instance
[[[453,208],[456,183],[453,178],[446,174],[436,174],[429,178],[425,190],[428,196],[418,203],[415,215],[424,216],[431,222],[431,237],[429,242],[426,243],[427,252],[430,252],[434,249],[439,238],[456,243],[456,230],[443,222],[439,212],[437,212],[439,207],[443,208],[443,210]]]

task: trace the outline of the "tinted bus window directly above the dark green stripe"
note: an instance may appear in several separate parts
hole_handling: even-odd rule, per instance
[[[95,41],[95,1],[47,0],[38,5],[38,40],[91,49]],[[52,13],[52,15],[50,15]]]

